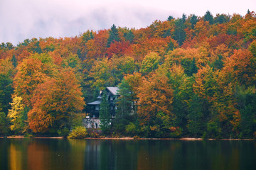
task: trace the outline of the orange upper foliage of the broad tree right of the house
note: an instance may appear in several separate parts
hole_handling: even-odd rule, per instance
[[[169,79],[166,77],[166,70],[164,69],[159,69],[152,77],[143,79],[138,94],[140,125],[150,125],[159,112],[171,115],[174,91],[168,81]]]

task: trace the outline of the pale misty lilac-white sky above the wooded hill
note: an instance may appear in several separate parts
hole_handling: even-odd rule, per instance
[[[169,16],[206,11],[245,16],[255,0],[0,0],[0,43],[17,45],[31,38],[75,37],[87,30],[146,28]]]

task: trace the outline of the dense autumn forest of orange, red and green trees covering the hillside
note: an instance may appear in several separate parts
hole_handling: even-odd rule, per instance
[[[2,42],[0,136],[68,134],[81,125],[86,103],[118,86],[105,135],[252,139],[255,85],[256,14],[249,10]]]

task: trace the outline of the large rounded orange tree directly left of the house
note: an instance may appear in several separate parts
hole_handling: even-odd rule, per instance
[[[80,84],[72,71],[60,72],[55,79],[38,86],[31,103],[28,125],[33,132],[69,129],[74,116],[85,106]]]

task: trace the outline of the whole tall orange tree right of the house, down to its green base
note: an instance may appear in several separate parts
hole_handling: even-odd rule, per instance
[[[166,69],[158,69],[139,87],[138,116],[146,136],[170,137],[178,129],[171,113],[174,94],[168,81]]]

